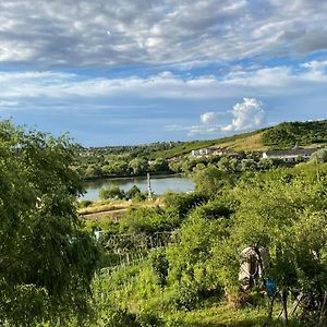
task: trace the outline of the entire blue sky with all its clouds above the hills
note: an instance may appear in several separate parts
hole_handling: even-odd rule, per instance
[[[1,0],[0,117],[89,145],[326,119],[327,1]]]

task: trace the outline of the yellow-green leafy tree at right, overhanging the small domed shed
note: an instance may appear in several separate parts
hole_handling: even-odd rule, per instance
[[[239,184],[231,237],[216,250],[216,261],[225,258],[220,265],[227,284],[238,284],[241,251],[255,246],[269,251],[264,277],[275,279],[284,295],[326,291],[326,183],[281,170]]]

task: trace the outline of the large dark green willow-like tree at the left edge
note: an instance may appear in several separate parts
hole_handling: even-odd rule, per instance
[[[98,259],[74,202],[83,192],[66,138],[0,123],[0,322],[31,326],[87,312]]]

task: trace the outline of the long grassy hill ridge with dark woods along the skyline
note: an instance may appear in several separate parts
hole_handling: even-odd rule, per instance
[[[159,142],[136,146],[106,146],[88,148],[90,157],[131,156],[149,159],[168,159],[190,154],[193,149],[206,147],[229,148],[241,150],[266,150],[300,147],[318,147],[327,145],[327,120],[308,122],[283,122],[278,125],[242,133],[218,140],[191,142]],[[89,161],[90,158],[85,158]]]

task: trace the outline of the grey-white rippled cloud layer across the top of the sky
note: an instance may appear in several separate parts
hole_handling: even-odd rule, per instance
[[[2,0],[0,62],[192,65],[312,53],[327,49],[326,12],[322,0]]]

